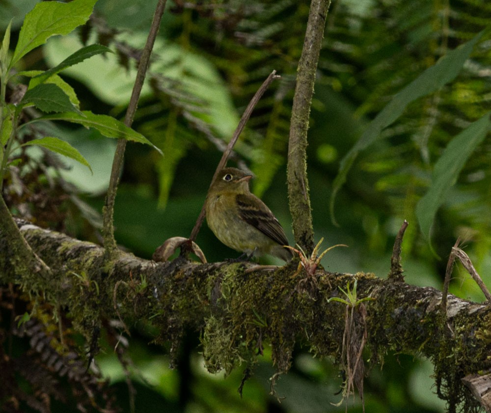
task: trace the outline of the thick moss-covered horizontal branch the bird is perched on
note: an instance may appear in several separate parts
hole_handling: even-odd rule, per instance
[[[48,299],[56,297],[52,304],[66,306],[74,327],[86,336],[91,334],[87,326],[101,317],[121,317],[127,325],[152,320],[162,332],[159,339],[172,341],[172,348],[178,348],[186,329],[200,330],[210,371],[230,371],[241,360],[253,361],[268,340],[278,372],[284,372],[299,339],[318,356],[340,360],[346,309],[328,300],[343,298],[341,289],[356,279],[357,300],[370,300],[364,301],[366,337],[357,337],[354,326],[351,339],[366,340],[373,363],[388,351],[429,358],[435,364],[437,392],[452,395],[450,403],[475,403],[461,379],[491,367],[491,306],[449,295],[443,319],[442,294],[435,288],[322,270],[314,274],[315,283],[305,283],[305,273],[295,263],[271,271],[250,262],[197,264],[177,258],[155,263],[121,253],[102,265],[104,249],[98,245],[19,225],[52,276],[40,280],[26,271],[18,282]],[[3,232],[0,248],[5,257]],[[4,279],[18,274],[9,261],[1,264]]]

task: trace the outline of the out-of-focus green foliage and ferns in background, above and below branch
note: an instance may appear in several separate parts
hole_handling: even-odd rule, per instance
[[[2,29],[10,20],[7,16],[13,16],[13,29],[18,30],[22,16],[34,3],[0,1]],[[61,76],[74,87],[81,109],[121,119],[154,3],[99,0],[95,15],[78,36],[51,39],[42,50],[20,61],[19,69],[53,67],[82,43],[104,44],[114,55],[92,57]],[[164,157],[142,145],[127,146],[115,207],[116,239],[125,248],[149,258],[166,238],[189,235],[224,144],[251,96],[273,69],[282,78],[255,108],[233,162],[254,172],[254,191],[273,209],[293,243],[285,167],[308,7],[308,2],[294,0],[168,1],[134,124],[164,151]],[[382,130],[383,139],[357,157],[335,203],[340,226],[334,227],[329,218],[332,181],[339,162],[369,122],[394,94],[438,58],[489,26],[490,17],[491,3],[486,0],[332,2],[311,112],[308,173],[316,239],[324,237],[328,245],[343,243],[350,248],[330,251],[323,259],[327,270],[373,271],[384,277],[390,267],[393,239],[407,219],[403,243],[407,282],[441,285],[446,258],[461,236],[477,271],[491,284],[489,136],[470,155],[438,210],[431,236],[440,258],[420,233],[415,213],[448,143],[490,110],[489,34],[479,41],[454,81],[410,103],[395,123]],[[17,35],[13,33],[13,37]],[[63,167],[51,161],[47,170],[39,166],[46,154],[29,155],[38,159],[31,171],[14,177],[19,180],[9,186],[17,188],[22,178],[27,189],[18,196],[12,190],[10,204],[15,205],[16,213],[40,224],[97,240],[93,228],[98,219],[87,204],[101,210],[113,142],[92,131],[56,128],[54,135],[76,147],[94,174],[77,169],[69,159],[62,159]],[[63,177],[56,182],[63,184],[54,183],[53,169]],[[73,185],[70,190],[69,183]],[[57,215],[52,212],[46,217],[46,205],[52,198],[57,202]],[[197,242],[210,261],[236,257],[206,226]],[[454,277],[454,294],[483,300],[461,267],[456,267]],[[195,351],[196,332],[189,332],[177,370],[167,369],[162,348],[147,344],[155,335],[151,326],[136,326],[126,350],[135,367],[130,368],[129,377],[135,383],[137,412],[158,408],[169,412],[345,410],[345,406],[330,405],[340,399],[333,393],[342,383],[335,364],[312,358],[300,345],[292,370],[278,381],[278,394],[286,396],[280,404],[268,395],[268,379],[274,370],[267,349],[241,399],[236,391],[241,371],[232,372],[226,380],[203,371]],[[130,411],[126,373],[112,347],[108,343],[103,347],[100,367],[111,377],[122,409]],[[366,411],[444,411],[433,394],[431,374],[428,361],[387,355],[383,367],[374,366],[366,379]],[[359,400],[350,399],[348,410],[361,412]]]

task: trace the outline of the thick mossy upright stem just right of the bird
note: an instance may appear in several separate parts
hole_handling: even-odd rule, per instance
[[[288,143],[288,198],[292,214],[295,241],[307,253],[314,248],[314,231],[310,210],[307,181],[307,129],[310,105],[314,93],[315,73],[326,26],[330,0],[312,0],[302,54],[297,86],[293,98],[290,139]]]

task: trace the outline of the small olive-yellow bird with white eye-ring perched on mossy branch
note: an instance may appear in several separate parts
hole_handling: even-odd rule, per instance
[[[226,246],[251,258],[270,254],[289,261],[293,254],[281,224],[270,208],[249,190],[252,175],[223,168],[210,185],[206,221]]]

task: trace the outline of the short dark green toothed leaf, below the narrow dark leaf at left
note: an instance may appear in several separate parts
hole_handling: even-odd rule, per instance
[[[68,95],[53,83],[42,83],[27,90],[19,105],[24,106],[28,103],[34,104],[46,113],[67,111],[82,113],[70,102]]]

